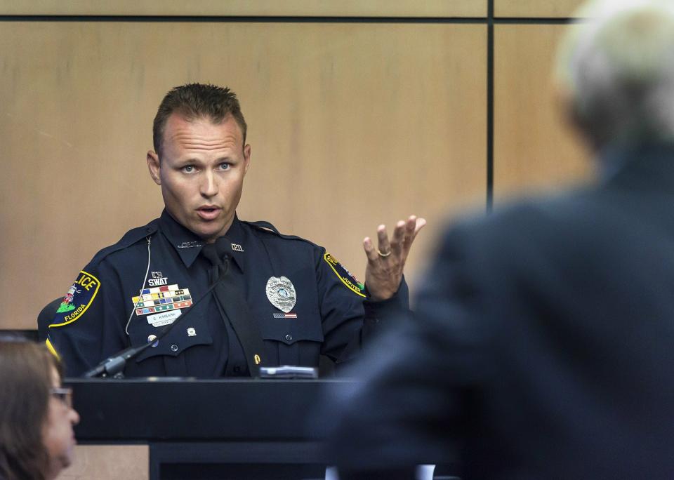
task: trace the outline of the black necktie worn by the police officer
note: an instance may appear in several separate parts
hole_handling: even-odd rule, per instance
[[[248,371],[251,377],[260,376],[260,363],[262,361],[264,344],[262,333],[256,320],[249,312],[248,304],[244,295],[234,281],[234,275],[230,272],[231,260],[227,253],[229,244],[227,239],[220,237],[215,244],[206,244],[201,248],[201,253],[211,262],[209,279],[211,284],[217,282],[213,288],[220,312],[230,322],[234,333],[244,349]]]

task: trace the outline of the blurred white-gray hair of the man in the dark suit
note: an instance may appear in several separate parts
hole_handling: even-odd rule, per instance
[[[674,1],[594,0],[557,56],[574,120],[599,148],[674,140]]]

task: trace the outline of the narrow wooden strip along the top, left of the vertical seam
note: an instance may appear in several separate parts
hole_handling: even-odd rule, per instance
[[[480,17],[487,0],[0,0],[0,14]]]

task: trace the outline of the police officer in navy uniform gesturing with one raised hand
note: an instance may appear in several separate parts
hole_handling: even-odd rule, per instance
[[[237,218],[251,146],[228,88],[173,88],[153,137],[147,166],[164,211],[94,256],[48,328],[69,375],[148,342],[125,375],[247,376],[317,366],[320,354],[341,363],[378,319],[407,309],[402,270],[423,219],[398,222],[390,240],[380,225],[377,248],[364,240],[365,288],[324,248]]]

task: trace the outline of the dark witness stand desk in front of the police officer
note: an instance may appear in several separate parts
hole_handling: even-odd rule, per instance
[[[307,417],[326,383],[348,380],[67,379],[81,444],[147,444],[150,480],[319,479]]]

